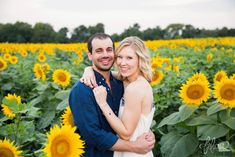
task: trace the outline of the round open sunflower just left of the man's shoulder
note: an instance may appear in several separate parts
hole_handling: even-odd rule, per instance
[[[66,87],[70,84],[70,73],[63,69],[57,69],[53,73],[53,81],[54,83]]]

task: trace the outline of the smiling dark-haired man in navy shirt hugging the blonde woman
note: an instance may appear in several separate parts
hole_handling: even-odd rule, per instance
[[[88,40],[88,51],[96,82],[107,88],[107,102],[117,115],[124,89],[122,82],[110,72],[114,63],[114,43],[109,35],[95,34]],[[118,138],[96,103],[92,89],[83,83],[73,86],[69,105],[77,132],[85,141],[84,157],[112,157],[113,151],[147,153],[153,148],[155,140],[146,134],[134,142]]]

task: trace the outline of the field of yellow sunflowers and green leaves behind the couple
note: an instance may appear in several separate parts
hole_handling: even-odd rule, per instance
[[[145,43],[155,156],[234,156],[235,38]],[[68,95],[91,64],[86,52],[85,43],[0,43],[1,157],[82,156]]]

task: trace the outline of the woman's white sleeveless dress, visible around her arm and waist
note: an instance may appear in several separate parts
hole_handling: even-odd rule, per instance
[[[121,99],[121,104],[120,104],[119,113],[118,113],[119,118],[122,116],[123,111],[124,111],[124,98]],[[130,141],[136,141],[136,139],[140,135],[142,135],[143,133],[149,132],[151,123],[153,121],[154,111],[155,111],[155,108],[153,105],[151,112],[147,116],[141,114],[137,127],[134,133],[132,134]],[[113,157],[153,157],[153,153],[152,151],[148,152],[147,154],[114,151]]]

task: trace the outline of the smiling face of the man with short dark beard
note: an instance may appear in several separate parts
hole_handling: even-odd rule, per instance
[[[92,40],[92,53],[88,53],[88,58],[93,63],[93,68],[97,71],[109,71],[114,63],[113,42],[111,39]]]

